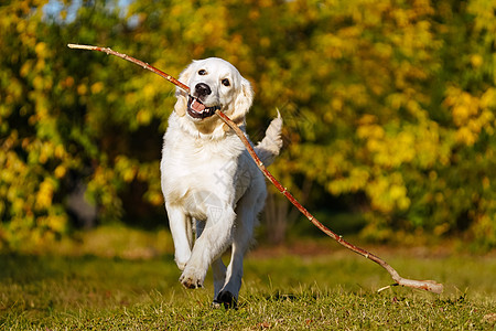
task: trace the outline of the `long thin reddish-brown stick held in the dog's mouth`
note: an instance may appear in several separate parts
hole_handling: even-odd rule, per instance
[[[134,57],[128,56],[126,54],[119,53],[119,52],[115,52],[108,47],[98,47],[98,46],[89,46],[89,45],[78,45],[78,44],[68,44],[67,45],[71,49],[80,49],[80,50],[89,50],[89,51],[99,51],[99,52],[104,52],[107,54],[111,54],[111,55],[116,55],[119,56],[123,60],[130,61],[134,64],[138,64],[140,66],[142,66],[145,70],[149,70],[162,77],[164,77],[165,79],[168,79],[169,82],[171,82],[172,84],[176,85],[177,87],[180,87],[181,89],[183,89],[184,92],[186,92],[187,94],[190,94],[190,87],[184,85],[183,83],[179,82],[176,78],[172,77],[171,75],[165,74],[164,72],[149,65],[148,63],[144,63],[142,61],[139,61]],[[407,287],[411,287],[411,288],[417,288],[417,289],[423,289],[427,291],[431,291],[434,293],[441,293],[443,291],[443,285],[439,284],[434,280],[414,280],[414,279],[408,279],[408,278],[403,278],[401,277],[398,271],[396,271],[389,264],[387,264],[384,259],[381,259],[380,257],[360,248],[357,247],[348,242],[346,242],[345,239],[343,239],[343,236],[339,236],[337,234],[335,234],[333,231],[331,231],[330,228],[327,228],[325,225],[323,225],[321,222],[319,222],[303,205],[301,205],[300,202],[298,202],[298,200],[288,191],[287,188],[284,188],[283,185],[281,185],[281,183],[276,180],[276,178],[269,172],[269,170],[267,170],[267,168],[263,166],[263,163],[261,162],[261,160],[258,158],[257,153],[255,152],[254,148],[251,147],[251,145],[249,143],[248,139],[246,138],[245,134],[241,131],[241,129],[233,121],[230,120],[230,118],[225,115],[224,113],[222,113],[220,110],[216,110],[215,111],[216,115],[218,117],[220,117],[220,119],[227,125],[229,126],[229,128],[231,128],[236,135],[239,137],[239,139],[242,141],[242,143],[245,145],[246,149],[248,150],[248,152],[250,153],[251,158],[254,159],[255,163],[257,164],[257,167],[260,169],[260,171],[265,174],[265,177],[279,190],[279,192],[281,192],[303,215],[305,215],[306,218],[309,218],[310,222],[312,222],[316,227],[319,227],[323,233],[325,233],[326,235],[328,235],[330,237],[332,237],[333,239],[335,239],[337,243],[339,243],[342,246],[355,252],[356,254],[359,254],[362,256],[364,256],[367,259],[370,259],[373,261],[375,261],[376,264],[378,264],[379,266],[381,266],[382,268],[385,268],[389,275],[391,276],[391,278],[396,281],[396,284],[393,285],[401,285],[401,286],[407,286]],[[387,287],[386,287],[387,288]],[[382,290],[385,288],[379,289]]]

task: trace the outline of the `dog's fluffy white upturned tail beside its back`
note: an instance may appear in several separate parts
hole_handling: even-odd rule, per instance
[[[257,143],[255,152],[263,162],[265,166],[269,166],[273,162],[282,147],[282,118],[278,111],[278,117],[272,119],[266,131],[266,137]]]

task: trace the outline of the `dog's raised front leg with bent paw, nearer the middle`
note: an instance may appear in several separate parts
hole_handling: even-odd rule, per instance
[[[208,266],[215,259],[220,258],[220,255],[231,243],[235,217],[236,214],[231,207],[224,207],[216,217],[208,217],[180,278],[185,287],[197,288],[203,286]],[[220,279],[218,280],[220,281]]]

